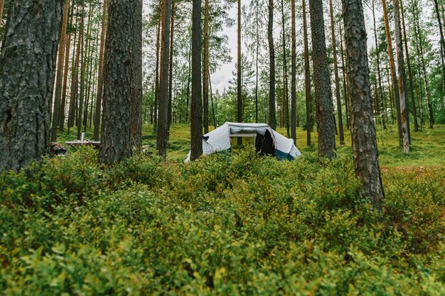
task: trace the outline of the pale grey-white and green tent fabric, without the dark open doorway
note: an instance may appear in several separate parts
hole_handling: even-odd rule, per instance
[[[293,160],[301,155],[298,148],[294,145],[294,140],[282,136],[281,133],[274,131],[269,125],[235,122],[226,122],[213,131],[206,133],[203,136],[203,154],[208,155],[222,150],[230,150],[230,136],[236,136],[237,133],[259,134],[263,138],[267,138],[265,137],[267,131],[269,131],[270,136],[272,136],[273,147],[275,149],[274,155],[278,159]],[[257,146],[257,143],[255,146]],[[190,160],[190,155],[191,153],[189,151],[185,160],[186,162]]]

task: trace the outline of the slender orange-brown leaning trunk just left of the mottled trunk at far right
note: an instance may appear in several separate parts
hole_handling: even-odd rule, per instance
[[[397,128],[399,131],[399,146],[403,147],[403,135],[402,135],[402,119],[400,118],[400,94],[397,87],[397,74],[395,72],[394,54],[392,53],[392,40],[390,31],[390,22],[388,21],[388,13],[386,9],[386,0],[382,0],[383,18],[385,20],[385,32],[388,45],[388,55],[390,57],[391,77],[392,77],[392,89],[394,90],[394,101],[397,110]]]

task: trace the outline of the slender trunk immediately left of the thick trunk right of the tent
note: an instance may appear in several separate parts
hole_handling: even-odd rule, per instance
[[[303,0],[303,38],[304,38],[304,86],[306,92],[306,143],[311,146],[311,66],[309,65],[308,26],[306,22],[306,0]]]

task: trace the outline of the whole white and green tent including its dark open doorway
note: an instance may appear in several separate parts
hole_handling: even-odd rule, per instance
[[[255,149],[260,155],[275,156],[280,160],[294,160],[301,155],[294,140],[282,136],[267,124],[226,122],[203,136],[203,154],[230,150],[232,137],[254,138]],[[190,160],[190,151],[185,161]]]

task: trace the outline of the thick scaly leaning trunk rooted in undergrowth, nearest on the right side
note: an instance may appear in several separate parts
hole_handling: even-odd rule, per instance
[[[365,19],[361,0],[343,0],[346,69],[351,103],[351,130],[355,174],[366,197],[380,209],[384,197],[371,106]]]

